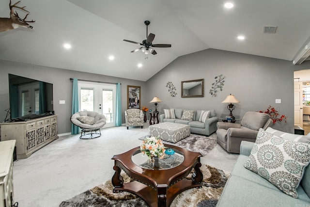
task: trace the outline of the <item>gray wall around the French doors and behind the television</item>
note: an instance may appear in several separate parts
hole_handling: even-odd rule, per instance
[[[122,83],[122,122],[125,122],[124,111],[127,107],[127,85],[141,87],[141,104],[145,104],[146,82],[130,79],[121,79],[92,73],[83,73],[73,70],[43,67],[31,64],[0,61],[0,121],[4,121],[6,109],[10,108],[8,74],[23,76],[35,80],[42,80],[53,84],[54,111],[58,115],[58,133],[71,132],[72,81],[70,78],[94,80],[102,82]],[[59,104],[65,100],[65,104]]]

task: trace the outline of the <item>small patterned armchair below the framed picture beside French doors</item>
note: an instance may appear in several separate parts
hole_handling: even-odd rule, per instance
[[[125,111],[126,127],[141,127],[143,128],[143,111],[140,109],[127,109]]]

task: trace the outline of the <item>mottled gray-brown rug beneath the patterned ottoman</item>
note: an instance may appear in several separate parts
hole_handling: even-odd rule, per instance
[[[147,136],[139,138],[139,140],[144,140]],[[192,152],[200,152],[202,156],[208,154],[215,145],[217,145],[217,134],[213,133],[209,137],[200,135],[200,134],[190,134],[189,137],[186,137],[183,140],[180,140],[177,143],[171,143],[163,141],[164,144],[171,144],[178,146],[184,149],[187,149]]]

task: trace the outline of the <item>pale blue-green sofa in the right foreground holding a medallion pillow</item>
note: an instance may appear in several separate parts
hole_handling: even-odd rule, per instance
[[[290,136],[288,133],[282,134],[284,136],[275,135],[284,139],[285,136]],[[297,188],[298,198],[293,198],[244,167],[253,145],[252,142],[241,142],[240,155],[217,202],[217,207],[310,207],[310,167],[306,168]]]

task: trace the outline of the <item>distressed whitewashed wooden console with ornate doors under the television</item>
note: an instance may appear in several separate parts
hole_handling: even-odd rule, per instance
[[[57,115],[29,121],[1,123],[1,141],[16,140],[17,159],[25,159],[48,143],[58,139]]]

